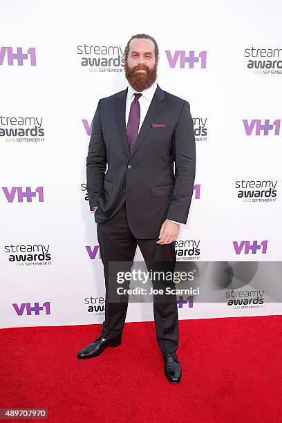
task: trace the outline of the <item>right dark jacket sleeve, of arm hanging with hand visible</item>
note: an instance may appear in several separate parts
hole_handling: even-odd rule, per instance
[[[196,147],[189,102],[185,102],[173,137],[174,187],[167,219],[186,223],[194,190]]]

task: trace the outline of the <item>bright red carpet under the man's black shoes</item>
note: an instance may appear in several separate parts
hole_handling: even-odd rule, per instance
[[[162,373],[151,322],[127,323],[122,346],[85,361],[100,325],[1,329],[0,408],[48,408],[48,422],[279,423],[281,323],[180,321],[180,385]]]

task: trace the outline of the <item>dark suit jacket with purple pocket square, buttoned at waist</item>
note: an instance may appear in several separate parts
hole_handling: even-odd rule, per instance
[[[126,200],[133,235],[158,238],[165,219],[186,223],[189,214],[196,164],[190,106],[157,85],[130,153],[126,95],[127,88],[97,104],[86,159],[89,204],[104,223]]]

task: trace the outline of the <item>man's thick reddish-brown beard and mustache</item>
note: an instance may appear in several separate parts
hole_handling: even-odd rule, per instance
[[[153,66],[153,69],[150,69],[145,64],[140,64],[138,66],[133,66],[133,68],[129,68],[127,60],[125,60],[124,62],[125,77],[128,80],[129,84],[132,86],[132,88],[138,92],[146,90],[147,88],[150,88],[150,86],[153,85],[153,83],[157,79],[157,68],[157,60],[155,62],[155,66]],[[144,69],[146,73],[136,72],[139,69]]]

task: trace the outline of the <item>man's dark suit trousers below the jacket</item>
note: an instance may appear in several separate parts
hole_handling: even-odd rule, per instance
[[[128,262],[128,271],[134,263],[137,246],[140,247],[145,263],[165,262],[171,268],[176,265],[175,242],[170,244],[156,244],[158,239],[139,239],[133,236],[126,217],[126,203],[109,220],[97,223],[97,237],[100,254],[104,265],[104,279],[106,288],[105,317],[102,324],[102,337],[113,339],[122,335],[126,318],[127,301],[115,303],[109,301],[109,263]],[[127,265],[127,263],[126,263]],[[160,265],[162,265],[160,263]],[[148,266],[147,266],[148,267]],[[155,301],[153,297],[153,315],[155,320],[156,338],[160,349],[164,353],[172,353],[178,348],[178,308],[176,296],[169,302]]]

